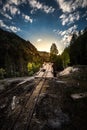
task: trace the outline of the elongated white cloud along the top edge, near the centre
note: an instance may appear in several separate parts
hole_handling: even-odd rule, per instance
[[[47,5],[44,5],[37,0],[28,0],[28,1],[33,10],[43,10],[47,14],[52,13],[55,10],[52,6],[49,7]]]

